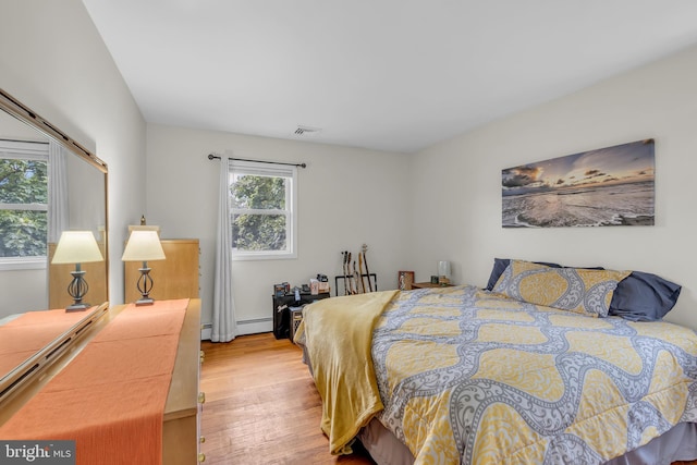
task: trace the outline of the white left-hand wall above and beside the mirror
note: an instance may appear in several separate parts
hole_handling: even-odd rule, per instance
[[[122,303],[122,244],[145,196],[145,121],[82,1],[2,1],[0,87],[108,163],[109,291]]]

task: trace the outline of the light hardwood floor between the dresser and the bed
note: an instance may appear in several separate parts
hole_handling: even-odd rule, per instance
[[[375,464],[365,451],[339,457],[329,453],[319,429],[319,394],[301,350],[288,339],[242,335],[229,343],[204,341],[201,350],[206,464]]]

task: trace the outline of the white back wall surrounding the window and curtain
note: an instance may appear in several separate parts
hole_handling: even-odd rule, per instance
[[[235,261],[232,291],[237,320],[270,319],[273,284],[308,282],[318,272],[341,273],[341,250],[368,244],[368,264],[380,290],[396,287],[408,261],[409,156],[230,133],[148,124],[148,224],[167,238],[200,240],[201,321],[211,320],[216,211],[220,161],[210,152],[257,160],[305,162],[298,170],[298,257]],[[157,285],[157,278],[156,284]],[[242,325],[246,331],[270,331]]]

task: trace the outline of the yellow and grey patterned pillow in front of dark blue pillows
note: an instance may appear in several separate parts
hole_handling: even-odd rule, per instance
[[[535,305],[607,317],[617,283],[631,271],[552,268],[511,260],[493,292]]]

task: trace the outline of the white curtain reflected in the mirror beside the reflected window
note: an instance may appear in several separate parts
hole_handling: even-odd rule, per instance
[[[48,242],[58,243],[70,228],[65,152],[53,140],[48,144]]]

